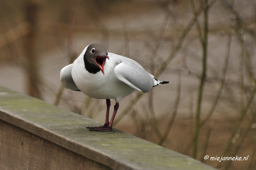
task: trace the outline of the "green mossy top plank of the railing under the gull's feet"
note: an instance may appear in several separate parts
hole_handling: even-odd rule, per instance
[[[0,119],[110,169],[215,169],[117,129],[88,131],[100,123],[3,87]]]

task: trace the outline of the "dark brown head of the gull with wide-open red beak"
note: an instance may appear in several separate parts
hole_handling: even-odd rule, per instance
[[[108,51],[100,44],[91,44],[87,47],[84,53],[84,65],[85,69],[92,74],[96,74],[99,71],[104,73],[104,65],[106,59],[109,60]]]

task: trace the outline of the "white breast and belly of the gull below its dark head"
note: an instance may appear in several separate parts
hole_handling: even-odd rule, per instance
[[[106,60],[105,75],[101,71],[96,74],[89,73],[84,67],[83,56],[79,56],[72,67],[72,78],[76,86],[87,96],[97,99],[116,99],[131,94],[134,89],[118,80],[114,74],[115,61]]]

